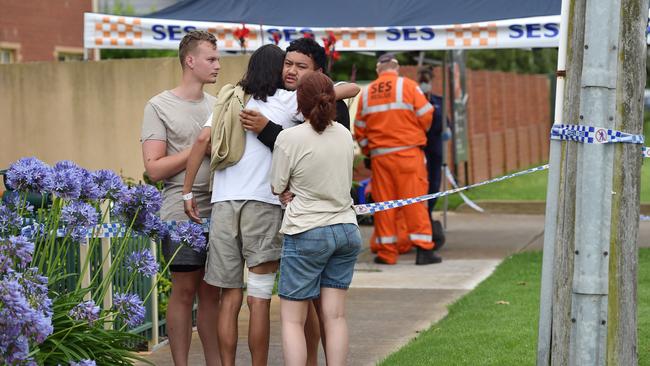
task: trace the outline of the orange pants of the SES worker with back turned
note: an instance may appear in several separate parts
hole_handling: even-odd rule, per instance
[[[372,197],[375,202],[421,196],[427,193],[429,182],[424,153],[419,148],[402,150],[372,157]],[[426,202],[414,203],[400,209],[406,222],[408,240],[425,250],[433,249],[431,221]],[[375,213],[375,247],[377,256],[386,263],[397,263],[397,210]]]

